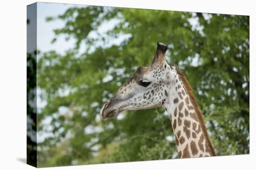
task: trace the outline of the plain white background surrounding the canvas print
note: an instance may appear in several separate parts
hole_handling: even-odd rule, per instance
[[[26,162],[26,20],[35,0],[3,0],[0,4],[0,170],[32,170]],[[45,0],[85,5],[165,9],[250,15],[250,154],[133,163],[44,168],[45,170],[120,169],[255,169],[256,12],[253,0]]]

